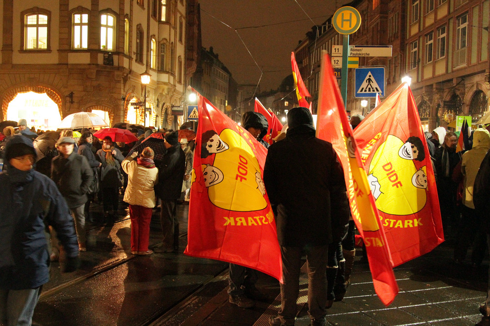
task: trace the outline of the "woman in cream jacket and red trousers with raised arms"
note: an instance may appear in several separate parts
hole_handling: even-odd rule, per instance
[[[121,163],[128,176],[123,200],[129,204],[131,254],[133,255],[153,253],[148,250],[148,241],[151,213],[156,205],[153,187],[158,182],[158,169],[153,162],[154,155],[153,150],[146,147],[141,155],[138,156],[138,152],[133,152]]]

